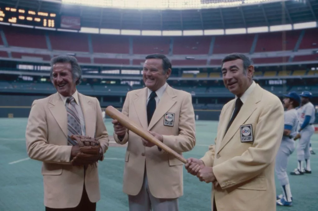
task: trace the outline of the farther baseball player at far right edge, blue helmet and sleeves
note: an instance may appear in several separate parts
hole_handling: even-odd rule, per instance
[[[310,99],[312,98],[312,94],[310,92],[304,91],[300,96],[302,103],[302,106],[298,109],[300,129],[298,130],[299,133],[295,137],[295,139],[300,138],[297,145],[298,167],[294,170],[294,172],[290,172],[291,175],[303,175],[304,173],[311,173],[309,144],[310,137],[315,132],[313,125],[315,122],[315,107],[310,102]],[[303,168],[303,161],[306,163],[305,168]]]

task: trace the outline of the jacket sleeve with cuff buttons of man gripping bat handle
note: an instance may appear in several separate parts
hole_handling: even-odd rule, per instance
[[[256,177],[273,163],[284,131],[284,108],[279,99],[263,108],[255,129],[254,142],[241,156],[213,167],[222,189]]]

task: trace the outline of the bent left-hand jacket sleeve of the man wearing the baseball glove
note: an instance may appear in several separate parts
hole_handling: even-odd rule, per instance
[[[43,105],[32,103],[25,132],[26,150],[31,159],[46,163],[71,164],[72,146],[48,144],[48,126]]]

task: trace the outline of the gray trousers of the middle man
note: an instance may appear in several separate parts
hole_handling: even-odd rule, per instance
[[[128,203],[129,211],[179,211],[178,198],[158,199],[150,193],[146,171],[140,192],[128,195]]]

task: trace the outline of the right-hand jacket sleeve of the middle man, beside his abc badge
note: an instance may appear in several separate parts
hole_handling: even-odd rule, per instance
[[[178,124],[179,135],[163,135],[163,144],[178,153],[190,151],[196,144],[195,117],[190,93],[187,93],[181,104]]]

